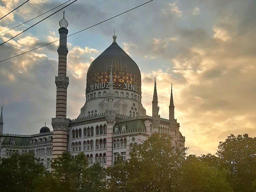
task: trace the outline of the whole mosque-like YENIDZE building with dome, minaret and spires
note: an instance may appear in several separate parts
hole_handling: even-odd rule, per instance
[[[0,118],[0,156],[14,152],[35,152],[36,157],[50,170],[52,159],[63,151],[73,156],[84,152],[89,164],[99,162],[105,168],[112,166],[120,154],[124,160],[134,144],[147,140],[153,132],[170,134],[173,145],[185,145],[180,124],[174,118],[171,91],[169,119],[158,114],[156,80],[152,100],[152,116],[146,114],[141,103],[141,75],[137,64],[116,43],[102,52],[90,65],[86,79],[86,101],[76,119],[69,119],[67,112],[67,34],[68,22],[59,22],[58,76],[55,77],[56,116],[52,118],[53,132],[46,126],[35,135],[3,134],[3,108]],[[172,90],[172,89],[171,89]]]

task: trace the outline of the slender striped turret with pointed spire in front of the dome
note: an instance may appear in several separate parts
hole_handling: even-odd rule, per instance
[[[115,36],[115,35],[114,35]],[[116,40],[116,36],[113,39]],[[113,76],[112,76],[112,66],[110,69],[110,76],[109,76],[109,90],[107,94],[108,100],[108,109],[106,109],[106,121],[107,121],[107,167],[112,166],[112,133],[113,133],[113,126],[115,124],[116,118],[116,111],[114,110],[114,92],[113,92]]]

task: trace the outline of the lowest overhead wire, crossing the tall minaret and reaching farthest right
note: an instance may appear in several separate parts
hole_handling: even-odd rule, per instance
[[[108,21],[108,20],[111,20],[111,19],[113,19],[113,18],[115,18],[115,17],[118,17],[118,16],[120,16],[120,15],[123,15],[124,13],[130,12],[130,11],[132,11],[132,10],[138,8],[138,7],[141,7],[141,6],[145,5],[145,4],[150,3],[151,1],[154,1],[154,0],[150,0],[150,1],[146,2],[146,3],[140,4],[140,5],[138,5],[137,7],[134,7],[134,8],[132,8],[132,9],[129,9],[129,10],[125,11],[125,12],[122,12],[122,13],[120,13],[120,14],[114,16],[114,17],[111,17],[111,18],[109,18],[109,19],[107,19],[107,20],[101,21],[100,23],[97,23],[97,24],[95,24],[95,25],[92,25],[91,27],[88,27],[88,28],[85,28],[85,29],[83,29],[83,30],[77,31],[76,33],[73,33],[73,34],[71,34],[71,35],[68,35],[67,37],[72,36],[72,35],[75,35],[75,34],[77,34],[77,33],[80,33],[80,32],[82,32],[82,31],[84,31],[84,30],[86,30],[86,29],[92,28],[92,27],[94,27],[94,26],[96,26],[96,25],[99,25],[99,24],[101,24],[101,23],[104,23],[104,22],[106,22],[106,21]],[[64,38],[66,38],[66,37],[64,37]],[[61,38],[61,39],[64,39],[64,38]],[[42,47],[47,46],[47,45],[49,45],[49,44],[55,43],[56,41],[59,41],[59,40],[61,40],[61,39],[57,39],[57,40],[52,41],[52,42],[50,42],[50,43],[48,43],[48,44],[44,44],[44,45],[42,45],[42,46],[40,46],[40,47],[37,47],[37,48],[35,48],[35,49],[31,49],[31,50],[26,51],[26,52],[24,52],[24,53],[20,53],[19,55],[15,55],[15,56],[10,57],[10,58],[8,58],[8,59],[1,60],[0,62],[3,62],[3,61],[6,61],[6,60],[9,60],[9,59],[12,59],[12,58],[14,58],[14,57],[18,57],[18,56],[20,56],[20,55],[26,54],[26,53],[31,52],[31,51],[35,51],[36,49],[39,49],[39,48],[42,48]]]

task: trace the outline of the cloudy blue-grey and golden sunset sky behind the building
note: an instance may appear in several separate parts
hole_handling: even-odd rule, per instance
[[[25,0],[0,0],[0,17]],[[0,33],[65,2],[30,0],[0,20]],[[68,34],[146,0],[78,0],[65,8]],[[142,105],[152,115],[154,77],[159,113],[169,118],[171,84],[175,118],[189,154],[216,153],[230,134],[256,136],[255,0],[154,0],[68,37],[67,117],[85,103],[87,69],[113,41],[141,71]],[[54,11],[52,11],[54,12]],[[51,13],[52,13],[51,12]],[[49,15],[49,14],[48,14]],[[4,42],[45,16],[0,35]],[[62,11],[0,46],[0,60],[59,38]],[[58,42],[0,62],[4,133],[35,134],[55,117]]]

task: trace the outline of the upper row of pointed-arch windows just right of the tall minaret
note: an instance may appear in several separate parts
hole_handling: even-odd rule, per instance
[[[97,135],[103,135],[103,134],[107,134],[107,125],[104,124],[103,126],[96,126],[95,127],[95,133],[96,136]],[[94,135],[94,127],[84,127],[84,137],[92,137]],[[82,129],[80,128],[79,130],[76,129],[72,131],[72,138],[76,139],[76,138],[81,138],[82,137]]]

